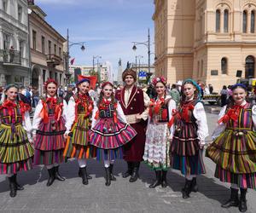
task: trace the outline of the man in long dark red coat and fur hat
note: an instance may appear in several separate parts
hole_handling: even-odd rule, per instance
[[[124,159],[128,170],[123,177],[131,176],[130,182],[137,181],[140,162],[143,160],[146,127],[148,118],[148,104],[150,99],[142,89],[135,85],[137,73],[131,68],[126,68],[122,74],[125,87],[115,93],[115,98],[125,113],[128,124],[137,131],[137,135],[124,146]]]

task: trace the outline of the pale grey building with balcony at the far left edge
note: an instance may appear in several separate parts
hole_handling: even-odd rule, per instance
[[[0,86],[31,83],[26,0],[0,1]]]

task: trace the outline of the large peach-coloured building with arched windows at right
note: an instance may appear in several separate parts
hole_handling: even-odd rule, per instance
[[[155,71],[219,90],[256,78],[256,0],[155,0]]]

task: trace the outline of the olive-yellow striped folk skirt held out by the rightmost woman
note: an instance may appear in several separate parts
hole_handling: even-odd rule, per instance
[[[224,130],[207,147],[206,156],[216,164],[215,177],[243,188],[256,188],[256,132]]]

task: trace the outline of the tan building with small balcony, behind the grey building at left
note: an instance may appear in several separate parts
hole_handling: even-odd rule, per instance
[[[43,92],[44,82],[54,78],[65,85],[65,57],[63,44],[66,39],[45,20],[46,14],[30,1],[28,8],[30,23],[30,47],[32,60],[32,86]]]

